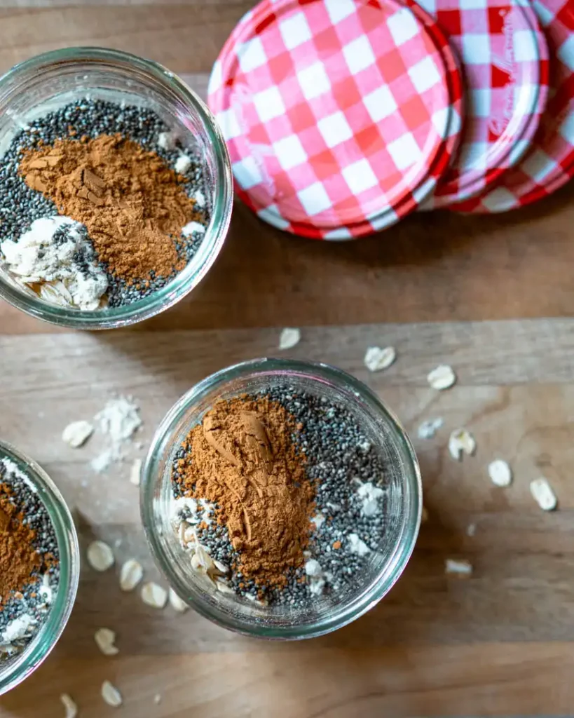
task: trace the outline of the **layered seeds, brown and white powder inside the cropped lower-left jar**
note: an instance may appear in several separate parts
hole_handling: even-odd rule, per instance
[[[60,571],[54,527],[34,485],[0,459],[0,663],[23,651],[47,620]]]

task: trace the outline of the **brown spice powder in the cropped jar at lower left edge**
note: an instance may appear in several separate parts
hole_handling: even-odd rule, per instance
[[[22,523],[24,514],[10,496],[9,486],[0,484],[0,610],[13,592],[29,584],[42,563],[32,544],[36,533]]]

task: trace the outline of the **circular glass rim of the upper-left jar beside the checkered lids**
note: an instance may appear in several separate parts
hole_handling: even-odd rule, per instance
[[[126,327],[154,317],[177,304],[199,284],[220,253],[231,221],[233,183],[231,162],[227,144],[220,128],[207,105],[199,95],[189,88],[178,75],[164,65],[133,55],[123,50],[107,47],[64,47],[30,57],[11,67],[0,77],[0,110],[6,111],[11,96],[22,93],[22,83],[27,78],[37,81],[42,72],[58,65],[93,62],[94,65],[117,65],[147,75],[152,81],[163,85],[177,97],[188,110],[199,118],[206,131],[215,160],[215,200],[212,215],[202,243],[187,266],[166,286],[156,290],[144,299],[122,307],[111,307],[88,311],[68,309],[19,292],[0,276],[0,297],[17,309],[45,322],[72,329],[100,330]],[[89,90],[89,88],[87,88]]]

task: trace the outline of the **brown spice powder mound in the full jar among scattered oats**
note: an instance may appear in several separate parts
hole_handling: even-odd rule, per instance
[[[282,587],[304,564],[315,488],[283,406],[268,398],[218,401],[187,436],[179,462],[185,495],[217,503],[240,553],[234,567],[258,584]]]

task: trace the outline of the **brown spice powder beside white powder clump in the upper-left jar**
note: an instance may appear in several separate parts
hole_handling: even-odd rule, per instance
[[[19,172],[88,228],[100,261],[129,284],[184,269],[175,241],[201,217],[184,177],[155,152],[120,134],[59,139],[25,152]]]

